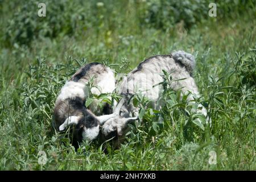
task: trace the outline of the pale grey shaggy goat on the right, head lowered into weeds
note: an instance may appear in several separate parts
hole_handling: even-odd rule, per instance
[[[192,94],[189,94],[187,98],[189,101],[194,100],[193,96],[199,98],[199,91],[192,77],[194,67],[194,57],[184,51],[152,56],[140,63],[121,83],[118,92],[123,97],[118,102],[113,115],[110,115],[102,126],[103,138],[109,139],[115,135],[122,137],[126,133],[127,123],[138,119],[139,108],[135,107],[132,102],[128,104],[133,94],[141,92],[155,104],[155,107],[160,108],[157,101],[161,94],[159,91],[163,90],[162,85],[159,85],[163,81],[162,70],[169,72],[172,79],[177,80],[170,85],[172,89],[181,89],[183,94],[191,92]],[[185,79],[182,80],[183,78]],[[201,104],[199,107],[203,108],[199,110],[207,117],[207,110]]]

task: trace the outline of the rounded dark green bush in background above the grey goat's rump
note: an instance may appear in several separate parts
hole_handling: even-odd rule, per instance
[[[207,18],[208,1],[148,1],[146,22],[158,28],[173,28],[183,21],[185,27],[191,27],[201,19]]]

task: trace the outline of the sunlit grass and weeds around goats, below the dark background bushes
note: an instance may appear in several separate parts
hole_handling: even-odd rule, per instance
[[[254,12],[203,20],[189,30],[183,23],[159,30],[139,26],[133,21],[139,13],[133,4],[127,8],[125,16],[113,16],[121,23],[131,14],[122,27],[112,21],[101,25],[102,20],[97,34],[89,28],[86,34],[32,40],[30,47],[0,48],[0,169],[255,170],[256,22],[249,19]],[[131,125],[117,150],[95,140],[76,152],[68,138],[52,130],[57,94],[82,64],[99,61],[127,73],[147,57],[174,49],[196,56],[198,102],[209,108],[211,127],[195,125],[185,111],[193,105],[168,89],[166,107],[144,109],[147,122]],[[159,115],[163,125],[157,124]],[[44,166],[38,164],[42,150],[48,159]],[[209,151],[216,151],[216,165],[208,163]]]

